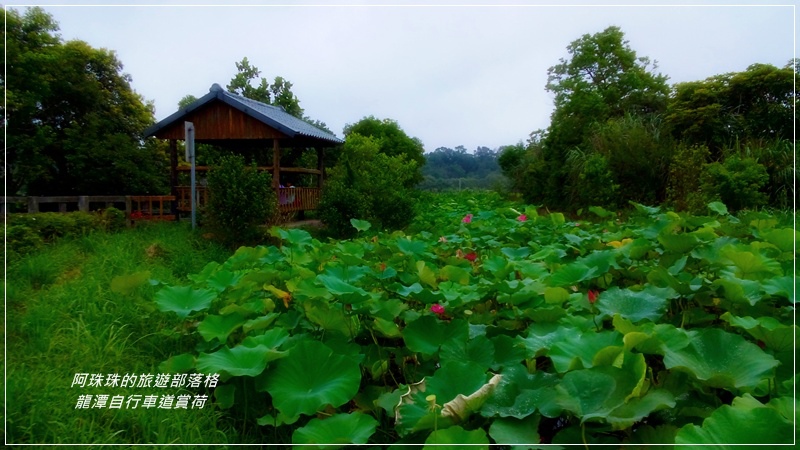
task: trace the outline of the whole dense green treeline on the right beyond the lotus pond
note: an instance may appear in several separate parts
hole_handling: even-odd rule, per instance
[[[792,206],[796,62],[670,87],[619,28],[568,51],[548,71],[550,126],[499,158],[526,201],[562,210]]]

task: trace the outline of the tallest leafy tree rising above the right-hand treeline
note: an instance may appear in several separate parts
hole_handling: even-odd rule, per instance
[[[592,126],[625,114],[653,115],[664,111],[669,94],[667,77],[654,73],[655,63],[636,52],[618,27],[583,35],[567,47],[569,60],[548,69],[546,89],[555,94],[555,110],[538,157],[527,172],[544,176],[534,181],[526,200],[571,208],[567,154],[586,150]],[[541,161],[537,161],[537,159]]]

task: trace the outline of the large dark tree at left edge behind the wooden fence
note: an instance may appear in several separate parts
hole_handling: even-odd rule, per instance
[[[116,54],[62,42],[40,8],[5,17],[8,192],[164,192],[168,156],[142,140],[152,104],[131,89]]]

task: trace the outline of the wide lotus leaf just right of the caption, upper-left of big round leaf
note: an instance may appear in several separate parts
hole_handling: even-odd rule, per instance
[[[267,363],[285,356],[284,352],[263,345],[234,348],[222,347],[214,353],[201,353],[197,357],[197,370],[203,373],[227,373],[233,376],[254,377],[267,367]]]

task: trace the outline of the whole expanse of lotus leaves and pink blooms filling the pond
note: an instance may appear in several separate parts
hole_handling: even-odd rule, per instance
[[[218,371],[247,399],[219,407],[273,443],[791,442],[791,217],[424,199],[422,231],[275,229],[208,264],[173,360]]]

